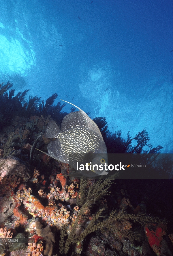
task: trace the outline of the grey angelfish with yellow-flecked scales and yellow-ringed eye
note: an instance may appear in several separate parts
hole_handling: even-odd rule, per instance
[[[65,101],[69,103],[68,101]],[[78,170],[83,176],[95,177],[106,175],[108,172],[104,168],[99,170],[99,165],[104,166],[108,162],[107,148],[98,126],[79,107],[79,111],[67,114],[62,121],[61,130],[52,120],[48,123],[44,136],[46,138],[56,138],[48,144],[50,157],[60,162],[70,164],[76,170],[76,164],[86,165],[86,163],[97,164],[96,168],[89,170]],[[81,168],[82,169],[82,168]]]

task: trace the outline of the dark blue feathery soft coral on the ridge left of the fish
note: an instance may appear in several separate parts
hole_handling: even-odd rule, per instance
[[[26,99],[29,90],[24,92],[18,92],[15,95],[15,90],[10,88],[12,83],[7,82],[6,85],[0,84],[0,123],[3,122],[4,125],[9,125],[11,120],[16,117],[30,117],[31,115],[51,115],[55,120],[61,124],[63,117],[67,113],[62,113],[61,110],[65,106],[58,102],[57,105],[53,105],[58,94],[53,93],[46,102],[41,101],[41,97],[29,96],[29,100]],[[7,92],[9,90],[9,92]],[[2,116],[3,113],[3,116]]]

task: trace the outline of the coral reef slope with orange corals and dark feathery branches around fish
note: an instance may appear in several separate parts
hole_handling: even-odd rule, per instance
[[[0,237],[33,241],[1,243],[0,255],[171,256],[169,180],[68,177],[68,164],[36,150],[46,151],[50,139],[44,131],[52,118],[61,125],[64,104],[53,105],[57,94],[45,102],[37,96],[27,100],[28,90],[14,95],[11,86],[0,85]],[[108,153],[161,149],[148,144],[146,130],[125,140],[121,131],[109,133],[105,118],[94,121]]]

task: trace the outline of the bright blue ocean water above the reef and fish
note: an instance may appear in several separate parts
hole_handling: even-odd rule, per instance
[[[0,0],[0,82],[173,153],[172,0]],[[67,104],[64,111],[69,112]]]

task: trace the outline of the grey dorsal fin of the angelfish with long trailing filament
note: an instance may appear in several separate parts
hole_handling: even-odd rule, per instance
[[[64,101],[64,100],[61,100],[61,101]],[[79,111],[71,112],[63,118],[63,121],[61,124],[61,131],[66,131],[69,128],[72,128],[74,126],[82,125],[95,131],[102,138],[99,127],[96,125],[96,123],[94,123],[94,121],[91,118],[89,118],[89,116],[83,110],[81,110],[79,107],[75,106],[74,104],[68,101],[65,101],[65,102],[78,108]]]

